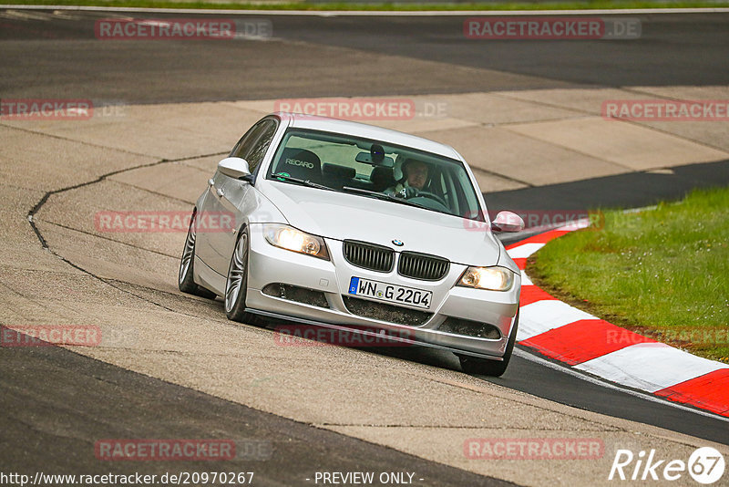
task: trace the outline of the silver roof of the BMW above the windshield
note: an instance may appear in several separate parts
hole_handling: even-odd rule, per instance
[[[397,130],[384,129],[382,127],[375,127],[374,125],[348,120],[306,115],[303,113],[288,113],[280,111],[273,113],[272,115],[282,119],[282,121],[286,121],[289,127],[296,129],[322,130],[324,132],[334,132],[344,135],[363,137],[364,139],[382,141],[385,142],[385,144],[390,143],[413,149],[425,150],[426,152],[463,161],[461,155],[447,144],[442,144],[435,140],[424,139],[422,137],[417,137]]]

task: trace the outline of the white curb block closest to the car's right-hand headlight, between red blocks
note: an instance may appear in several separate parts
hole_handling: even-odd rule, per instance
[[[537,301],[519,308],[517,341],[535,337],[545,331],[595,316],[554,299]]]

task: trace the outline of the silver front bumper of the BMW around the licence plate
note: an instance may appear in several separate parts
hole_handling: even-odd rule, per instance
[[[398,275],[395,270],[380,273],[349,264],[344,259],[343,243],[338,240],[325,239],[331,259],[326,261],[269,244],[260,224],[252,224],[249,229],[246,307],[252,313],[305,325],[356,329],[364,335],[376,335],[385,330],[386,337],[395,342],[445,348],[465,355],[492,359],[500,359],[504,355],[519,309],[519,275],[515,275],[514,285],[503,292],[455,286],[466,269],[466,265],[462,264],[451,264],[446,277],[440,281],[416,280]],[[352,276],[432,291],[430,308],[419,310],[430,316],[411,326],[355,314],[350,309],[352,306],[345,304],[345,299],[351,297],[348,289]],[[270,289],[276,285],[294,286],[306,290],[309,295],[323,295],[325,302],[321,299],[316,303],[303,302],[306,300],[274,295]],[[414,306],[397,307],[406,314],[410,310],[418,310]],[[452,326],[448,324],[454,319],[466,320],[458,321],[462,324],[459,329],[467,329],[469,333],[468,324],[471,323],[476,327],[478,324],[488,326],[492,331],[496,328],[498,337],[453,333]],[[448,331],[444,331],[446,329]]]

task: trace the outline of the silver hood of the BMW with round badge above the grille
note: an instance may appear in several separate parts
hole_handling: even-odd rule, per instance
[[[304,232],[439,255],[458,264],[498,263],[501,245],[486,223],[278,181],[270,181],[265,194],[291,225]],[[404,245],[395,246],[393,240]]]

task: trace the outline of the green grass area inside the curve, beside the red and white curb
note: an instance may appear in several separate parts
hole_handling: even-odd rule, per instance
[[[605,212],[604,228],[549,242],[527,273],[615,325],[729,362],[729,189]]]

